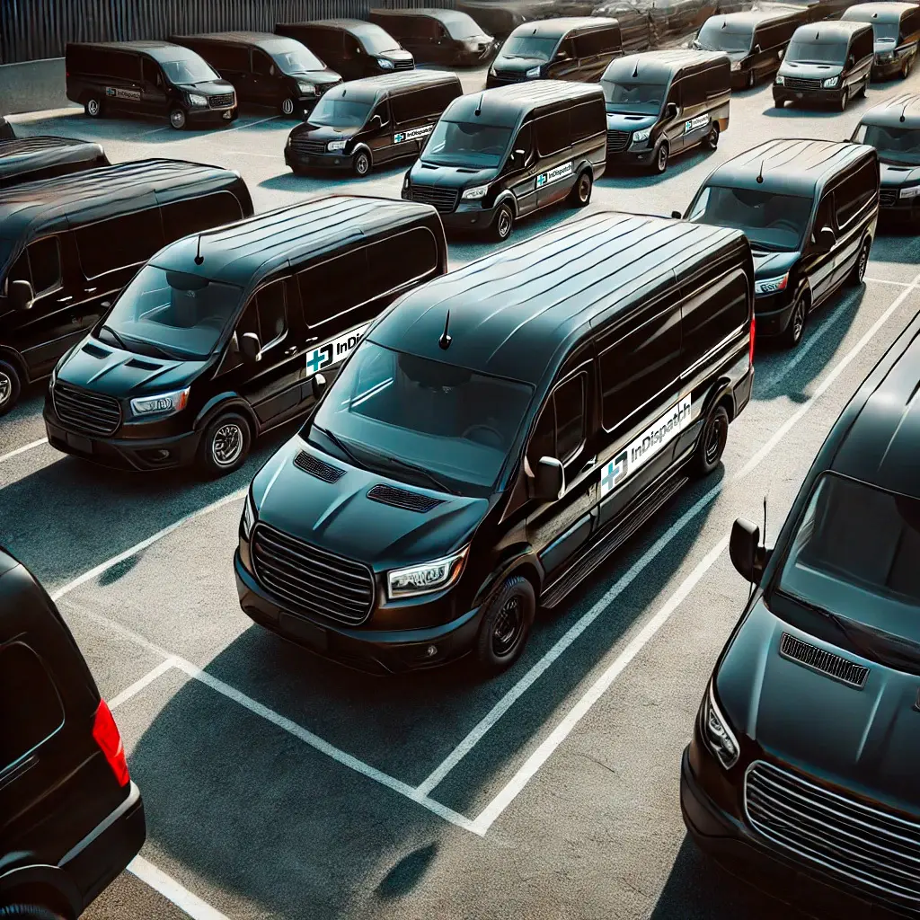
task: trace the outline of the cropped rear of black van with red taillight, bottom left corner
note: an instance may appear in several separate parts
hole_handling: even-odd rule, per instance
[[[3,549],[0,726],[0,916],[75,920],[137,856],[144,803],[63,617]]]

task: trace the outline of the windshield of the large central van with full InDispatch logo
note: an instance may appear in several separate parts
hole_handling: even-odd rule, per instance
[[[485,496],[533,395],[530,385],[365,339],[304,433],[315,425],[368,466],[429,488],[433,477],[452,491]]]

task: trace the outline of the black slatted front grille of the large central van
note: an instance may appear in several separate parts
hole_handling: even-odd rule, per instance
[[[252,538],[256,578],[283,603],[308,615],[359,626],[371,615],[374,575],[336,556],[257,523]]]

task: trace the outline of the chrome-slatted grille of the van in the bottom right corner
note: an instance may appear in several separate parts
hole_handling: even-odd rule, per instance
[[[763,761],[748,770],[744,805],[754,830],[774,843],[872,891],[920,904],[920,823]]]

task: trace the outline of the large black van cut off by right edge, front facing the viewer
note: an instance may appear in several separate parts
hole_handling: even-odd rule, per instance
[[[731,532],[753,596],[684,752],[681,806],[704,851],[795,914],[917,916],[918,391],[920,315],[841,413],[776,546],[750,522]]]

